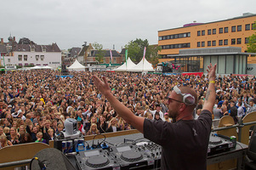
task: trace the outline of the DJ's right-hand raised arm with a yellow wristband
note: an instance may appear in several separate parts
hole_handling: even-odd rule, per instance
[[[205,101],[202,107],[202,110],[208,110],[213,113],[213,105],[216,99],[216,92],[215,92],[215,77],[216,77],[216,65],[208,65],[208,92],[205,97]]]

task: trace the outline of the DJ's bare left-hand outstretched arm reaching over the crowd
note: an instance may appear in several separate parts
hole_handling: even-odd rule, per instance
[[[117,114],[128,122],[128,124],[132,125],[132,127],[135,127],[139,132],[143,133],[145,117],[135,116],[125,105],[122,105],[122,103],[111,94],[111,88],[109,88],[105,77],[103,77],[104,82],[102,82],[99,77],[94,76],[93,78],[94,85],[100,90],[101,94],[105,95],[105,98],[111,103],[112,107],[117,111]]]

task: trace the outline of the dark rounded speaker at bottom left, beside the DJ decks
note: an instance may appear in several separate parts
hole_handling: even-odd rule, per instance
[[[54,169],[54,170],[76,170],[77,168],[60,151],[54,148],[40,150],[31,161],[31,170]]]

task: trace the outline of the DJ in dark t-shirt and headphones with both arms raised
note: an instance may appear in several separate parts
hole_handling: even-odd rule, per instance
[[[188,87],[174,87],[168,97],[168,116],[176,122],[162,122],[135,116],[111,94],[107,80],[94,76],[94,85],[105,95],[119,116],[144,133],[146,139],[162,145],[162,169],[207,169],[207,151],[212,127],[215,93],[215,65],[208,65],[208,91],[198,119],[192,112],[197,104],[196,91]]]

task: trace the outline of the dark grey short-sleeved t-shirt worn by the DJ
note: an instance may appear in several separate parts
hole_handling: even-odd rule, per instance
[[[144,121],[144,137],[162,145],[161,169],[207,169],[212,114],[204,110],[197,120],[175,123]]]

